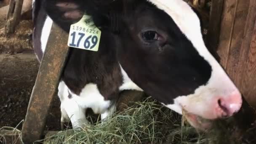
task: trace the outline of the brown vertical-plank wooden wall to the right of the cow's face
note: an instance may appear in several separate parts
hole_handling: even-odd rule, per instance
[[[256,107],[256,0],[224,0],[217,53],[245,99]]]

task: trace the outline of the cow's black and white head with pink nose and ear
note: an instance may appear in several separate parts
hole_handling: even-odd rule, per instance
[[[188,112],[195,127],[197,116],[213,120],[240,109],[239,90],[205,47],[200,19],[184,1],[77,0],[55,6],[62,11],[53,11],[56,21],[74,22],[85,11],[102,31],[114,33],[123,75],[166,107]]]

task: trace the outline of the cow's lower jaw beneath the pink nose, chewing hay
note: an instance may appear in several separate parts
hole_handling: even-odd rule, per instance
[[[187,122],[197,130],[207,131],[212,127],[212,120],[207,120],[203,117],[200,117],[199,115],[189,113],[185,109],[182,110],[182,115],[187,120]]]

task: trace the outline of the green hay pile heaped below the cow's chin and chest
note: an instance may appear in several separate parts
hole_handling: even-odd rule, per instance
[[[105,123],[87,124],[45,139],[46,144],[201,144],[206,141],[181,116],[155,101],[135,103]]]

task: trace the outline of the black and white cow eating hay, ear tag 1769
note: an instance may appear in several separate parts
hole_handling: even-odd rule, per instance
[[[104,119],[122,90],[145,91],[166,107],[214,120],[230,117],[241,94],[203,42],[200,19],[183,0],[38,0],[34,47],[41,60],[51,25],[69,31],[90,15],[101,29],[98,52],[71,48],[59,84],[61,122],[80,127],[92,108]],[[41,6],[38,6],[41,5]],[[47,13],[47,14],[46,14]],[[113,104],[112,104],[113,103]]]

